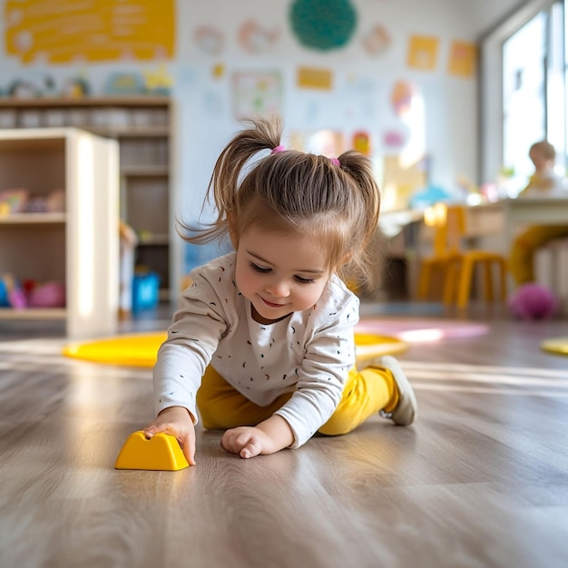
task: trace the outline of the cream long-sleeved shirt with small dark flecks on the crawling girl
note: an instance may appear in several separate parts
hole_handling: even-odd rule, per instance
[[[197,419],[195,396],[211,365],[259,406],[293,393],[276,414],[299,447],[333,414],[355,364],[358,299],[333,275],[315,306],[261,324],[234,274],[234,252],[191,271],[154,367],[156,412],[184,406]]]

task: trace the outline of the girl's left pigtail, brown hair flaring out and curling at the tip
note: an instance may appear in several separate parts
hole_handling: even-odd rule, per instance
[[[278,117],[248,122],[251,127],[237,133],[225,146],[211,174],[201,213],[208,203],[214,203],[216,220],[201,226],[178,221],[178,232],[183,240],[203,244],[225,238],[229,234],[228,217],[235,211],[241,176],[247,165],[258,152],[279,146],[283,127]]]

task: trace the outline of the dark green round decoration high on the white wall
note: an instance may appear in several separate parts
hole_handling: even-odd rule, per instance
[[[295,0],[290,7],[290,24],[301,44],[328,51],[348,43],[357,12],[349,0]]]

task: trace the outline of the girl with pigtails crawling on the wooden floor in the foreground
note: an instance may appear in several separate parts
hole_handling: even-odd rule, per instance
[[[355,368],[357,297],[341,274],[371,272],[379,191],[369,162],[285,150],[279,120],[252,122],[221,152],[217,219],[185,239],[234,252],[191,271],[154,367],[156,418],[195,464],[195,429],[249,458],[347,434],[381,413],[407,426],[416,397],[394,357]],[[259,156],[260,152],[268,155]]]

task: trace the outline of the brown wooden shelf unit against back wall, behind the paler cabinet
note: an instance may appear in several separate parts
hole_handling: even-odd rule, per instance
[[[165,96],[0,99],[0,129],[75,126],[120,147],[120,215],[138,235],[136,265],[171,288],[171,104]],[[1,131],[0,131],[1,132]]]

